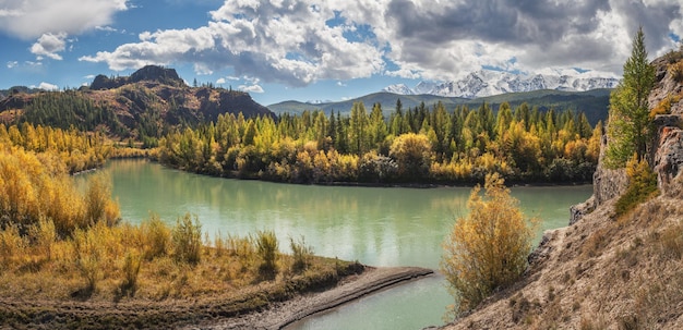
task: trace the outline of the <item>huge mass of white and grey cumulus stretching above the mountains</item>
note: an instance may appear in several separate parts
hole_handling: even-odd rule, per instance
[[[374,74],[452,80],[483,66],[620,74],[638,24],[657,54],[675,46],[669,35],[683,33],[682,16],[680,0],[226,0],[205,26],[146,32],[80,60],[230,68],[289,86]]]

